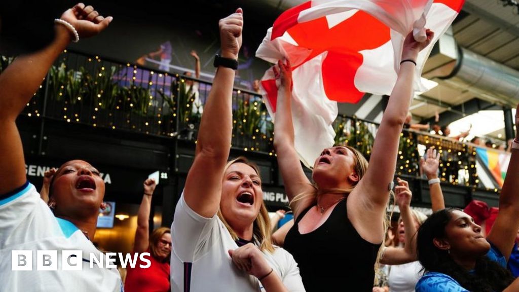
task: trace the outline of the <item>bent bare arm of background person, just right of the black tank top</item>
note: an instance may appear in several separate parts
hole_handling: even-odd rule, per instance
[[[417,260],[416,256],[416,225],[411,213],[411,198],[413,194],[409,190],[407,181],[397,178],[398,184],[394,188],[397,204],[400,208],[400,217],[404,223],[405,242],[404,247],[386,247],[384,255],[380,258],[383,264],[403,264]]]

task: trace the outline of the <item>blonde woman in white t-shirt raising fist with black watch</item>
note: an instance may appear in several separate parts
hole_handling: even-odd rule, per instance
[[[304,291],[299,269],[272,246],[257,167],[227,163],[242,10],[220,20],[221,57],[200,123],[196,155],[176,205],[171,237],[172,291]]]

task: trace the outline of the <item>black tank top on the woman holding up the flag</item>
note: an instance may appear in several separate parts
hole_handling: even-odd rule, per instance
[[[283,246],[294,256],[306,291],[372,292],[380,244],[365,241],[353,228],[346,200],[334,207],[319,228],[299,233],[297,224],[310,208],[299,215]]]

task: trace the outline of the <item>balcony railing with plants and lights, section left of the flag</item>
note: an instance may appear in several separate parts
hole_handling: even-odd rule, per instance
[[[24,114],[93,127],[196,140],[211,83],[64,51]],[[261,96],[233,90],[233,146],[272,155]]]

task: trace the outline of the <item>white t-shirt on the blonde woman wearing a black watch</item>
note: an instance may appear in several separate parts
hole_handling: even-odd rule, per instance
[[[176,205],[171,238],[172,291],[264,291],[256,277],[238,270],[230,259],[227,251],[238,245],[222,220],[217,215],[204,218],[196,214],[183,194]],[[275,248],[274,254],[264,252],[270,267],[289,291],[305,291],[292,255]]]

